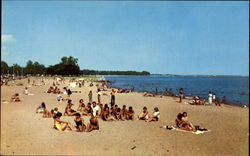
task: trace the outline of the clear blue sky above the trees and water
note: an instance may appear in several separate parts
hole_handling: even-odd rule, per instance
[[[248,2],[3,1],[2,60],[249,75]]]

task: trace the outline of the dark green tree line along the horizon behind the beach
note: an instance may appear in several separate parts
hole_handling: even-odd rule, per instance
[[[29,60],[25,67],[18,64],[9,66],[6,62],[1,61],[1,75],[61,75],[61,76],[79,76],[79,75],[150,75],[147,71],[98,71],[98,70],[81,70],[78,65],[78,59],[72,56],[62,57],[61,62],[55,65],[45,67],[37,61]]]

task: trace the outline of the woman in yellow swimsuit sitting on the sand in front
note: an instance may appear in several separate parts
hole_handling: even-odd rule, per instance
[[[62,121],[62,113],[57,113],[54,118],[54,128],[58,131],[72,130],[70,122]]]

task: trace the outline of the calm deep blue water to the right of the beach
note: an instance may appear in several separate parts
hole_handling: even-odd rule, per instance
[[[163,77],[163,76],[106,76],[111,81],[111,87],[132,89],[136,91],[163,93],[166,88],[172,88],[178,94],[179,88],[185,95],[207,98],[208,92],[216,94],[221,99],[226,96],[229,104],[249,106],[249,77]]]

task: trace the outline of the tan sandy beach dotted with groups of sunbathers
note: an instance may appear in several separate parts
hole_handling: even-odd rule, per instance
[[[31,79],[32,82],[33,79]],[[249,108],[223,105],[194,106],[178,103],[173,97],[143,97],[142,93],[117,93],[116,104],[133,106],[135,115],[143,106],[153,112],[159,107],[161,117],[158,122],[99,120],[100,130],[90,133],[53,129],[52,118],[42,118],[36,108],[45,102],[50,110],[58,107],[64,112],[66,102],[56,101],[55,94],[44,93],[53,80],[46,80],[45,86],[32,86],[34,95],[23,95],[27,79],[18,80],[24,86],[1,86],[1,101],[9,100],[14,93],[20,93],[22,102],[1,102],[1,155],[168,155],[168,156],[246,156],[249,153]],[[66,85],[60,85],[62,89]],[[93,90],[93,100],[97,101],[96,87],[72,88],[82,93],[73,93],[73,109],[77,109],[80,98],[88,101],[88,92]],[[104,93],[104,92],[103,92]],[[106,92],[110,95],[110,91]],[[65,95],[63,95],[66,97]],[[185,101],[185,100],[184,100]],[[109,103],[110,96],[102,96],[102,103]],[[210,132],[192,134],[160,128],[174,125],[176,115],[186,111],[189,121],[205,127]],[[89,117],[83,117],[85,124]],[[72,124],[73,117],[63,116]]]

